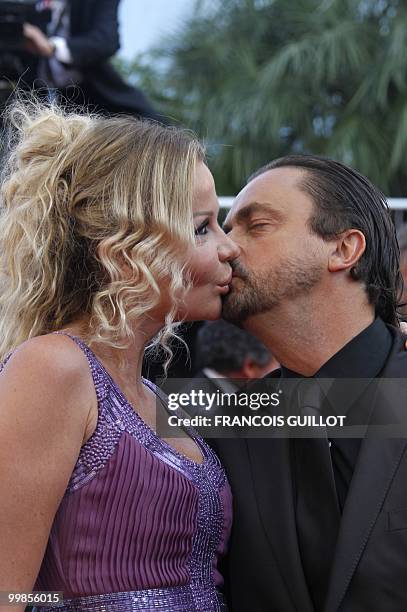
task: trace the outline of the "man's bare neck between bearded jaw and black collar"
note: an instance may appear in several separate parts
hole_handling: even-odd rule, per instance
[[[374,321],[369,304],[332,307],[314,302],[282,304],[251,317],[244,328],[257,336],[286,368],[313,376]]]

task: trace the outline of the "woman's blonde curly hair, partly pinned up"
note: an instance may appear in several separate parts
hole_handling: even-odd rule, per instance
[[[134,322],[159,303],[163,281],[172,307],[157,342],[171,354],[201,144],[178,128],[35,100],[15,103],[6,122],[0,359],[83,313],[90,345],[125,348]]]

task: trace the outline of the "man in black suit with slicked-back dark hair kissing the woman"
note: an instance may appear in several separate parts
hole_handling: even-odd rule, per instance
[[[405,376],[398,246],[366,178],[324,158],[276,160],[225,230],[240,255],[224,317],[272,347],[283,378]],[[403,411],[406,393],[393,400]],[[319,454],[316,442],[217,443],[234,493],[232,611],[407,610],[407,440],[320,439]]]

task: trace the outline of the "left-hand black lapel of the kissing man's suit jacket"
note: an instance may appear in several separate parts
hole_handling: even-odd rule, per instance
[[[295,525],[290,440],[248,439],[257,507],[283,581],[301,612],[313,610],[302,570]]]

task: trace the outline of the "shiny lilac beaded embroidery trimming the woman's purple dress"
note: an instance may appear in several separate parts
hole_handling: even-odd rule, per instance
[[[52,610],[121,612],[157,609],[162,612],[219,612],[225,609],[213,581],[213,561],[222,536],[224,520],[220,490],[226,483],[226,475],[219,459],[193,432],[189,433],[202,451],[203,463],[192,461],[159,438],[133,409],[91,349],[76,336],[66,332],[54,333],[69,336],[85,353],[98,400],[96,429],[80,450],[65,495],[72,494],[96,476],[114,454],[123,432],[127,432],[169,468],[178,470],[188,478],[196,486],[199,496],[196,530],[188,560],[188,585],[65,600],[55,605]],[[10,356],[11,354],[7,355],[0,364],[0,372]],[[144,383],[157,393],[155,385],[149,381]],[[45,612],[50,608],[36,610]]]

